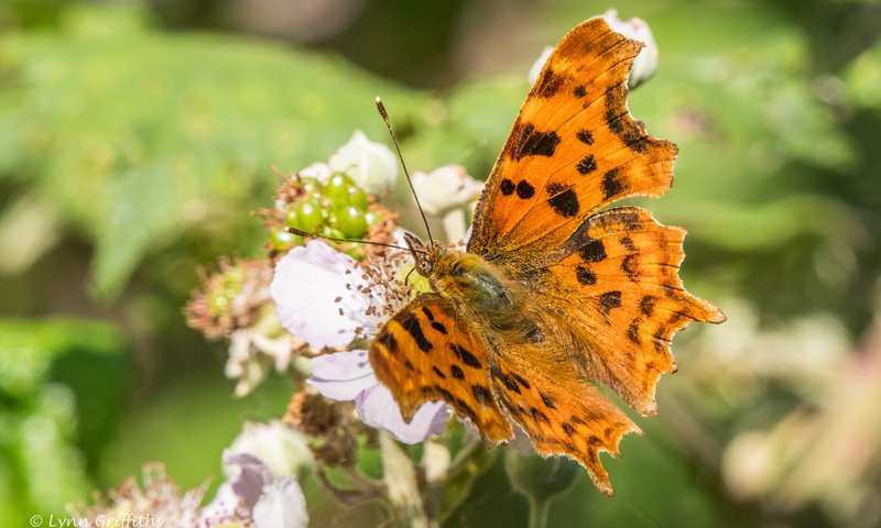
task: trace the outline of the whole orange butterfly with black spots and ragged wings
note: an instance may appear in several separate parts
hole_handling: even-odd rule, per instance
[[[626,105],[642,43],[588,20],[557,44],[478,202],[466,252],[407,234],[416,295],[369,348],[377,378],[410,422],[446,402],[488,444],[514,426],[544,457],[578,461],[612,495],[599,454],[641,433],[597,387],[648,416],[676,370],[673,334],[722,322],[678,277],[685,231],[639,207],[673,183],[675,144],[646,134]]]

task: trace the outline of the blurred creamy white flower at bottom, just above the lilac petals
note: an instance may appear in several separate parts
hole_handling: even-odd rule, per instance
[[[230,455],[247,453],[259,458],[275,476],[296,475],[313,461],[303,435],[280,420],[246,422],[228,451]]]

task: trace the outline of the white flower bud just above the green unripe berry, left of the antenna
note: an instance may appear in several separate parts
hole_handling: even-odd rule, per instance
[[[394,188],[398,180],[398,158],[388,146],[355,131],[348,143],[327,161],[335,172],[346,173],[360,188],[371,195]]]

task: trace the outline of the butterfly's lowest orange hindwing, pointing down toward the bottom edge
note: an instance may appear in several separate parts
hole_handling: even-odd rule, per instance
[[[542,361],[534,361],[541,354]],[[558,342],[511,346],[491,369],[499,402],[544,457],[577,460],[602,493],[612,495],[602,451],[618,457],[618,443],[640,429],[594,386],[584,383]]]

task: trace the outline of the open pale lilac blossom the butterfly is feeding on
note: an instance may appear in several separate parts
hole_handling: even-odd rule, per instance
[[[382,272],[395,275],[395,270]],[[339,346],[352,341],[356,328],[363,338],[374,337],[396,305],[406,300],[387,295],[385,286],[365,277],[351,257],[312,241],[279,261],[270,292],[282,324],[291,332],[314,348]],[[405,424],[391,393],[373,375],[365,350],[315,358],[307,382],[328,398],[355,400],[365,424],[387,429],[402,442],[421,442],[446,427],[443,402],[423,405]]]

